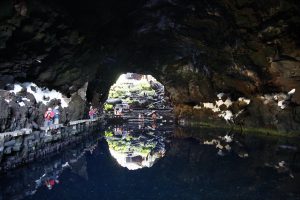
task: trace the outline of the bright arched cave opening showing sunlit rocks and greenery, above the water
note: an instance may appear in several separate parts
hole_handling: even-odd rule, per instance
[[[151,75],[125,73],[110,87],[104,104],[106,113],[133,110],[161,110],[170,108],[164,86]]]

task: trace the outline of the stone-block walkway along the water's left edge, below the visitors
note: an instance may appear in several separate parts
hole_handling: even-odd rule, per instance
[[[55,125],[40,130],[21,129],[0,133],[0,172],[60,151],[100,129],[103,117],[71,121],[69,126]]]

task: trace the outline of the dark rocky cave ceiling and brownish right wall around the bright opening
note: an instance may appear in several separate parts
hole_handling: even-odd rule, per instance
[[[32,81],[70,97],[88,82],[97,104],[120,73],[147,73],[179,118],[218,121],[227,109],[229,123],[297,131],[299,13],[296,0],[4,0],[0,88]],[[234,103],[195,109],[219,93]]]

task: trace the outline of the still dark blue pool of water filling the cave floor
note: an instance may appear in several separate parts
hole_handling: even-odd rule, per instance
[[[295,139],[147,125],[106,136],[2,175],[0,199],[300,199]]]

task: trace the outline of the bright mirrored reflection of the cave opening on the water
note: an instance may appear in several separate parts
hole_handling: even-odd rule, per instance
[[[156,123],[144,122],[116,126],[105,131],[110,154],[129,170],[152,167],[165,155],[165,140],[172,130],[159,129]]]

